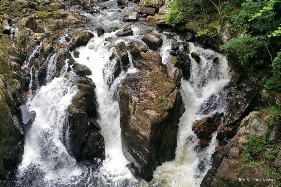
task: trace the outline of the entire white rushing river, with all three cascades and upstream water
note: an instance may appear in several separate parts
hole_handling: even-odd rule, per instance
[[[122,12],[117,11],[117,2],[113,0],[96,2],[96,7],[101,6],[108,8],[101,10],[101,14],[91,15],[82,12],[91,19],[91,22],[87,23],[89,30],[97,26],[104,28],[118,26],[122,29],[130,25],[134,31],[134,36],[127,37],[116,36],[115,33],[119,30],[105,33],[101,37],[94,33],[95,36],[87,46],[77,49],[80,57],[74,58],[78,63],[87,65],[92,71],[92,75],[88,77],[96,84],[99,123],[102,128],[101,134],[105,139],[106,160],[76,162],[68,154],[61,136],[65,131],[63,124],[66,120],[67,107],[78,89],[73,84],[75,77],[73,72],[63,72],[61,77],[50,81],[57,60],[57,54],[51,54],[47,58],[49,82],[46,86],[38,88],[27,102],[37,115],[30,131],[26,134],[22,163],[18,165],[15,182],[12,182],[10,187],[199,187],[211,167],[211,156],[217,141],[214,134],[210,146],[196,151],[198,138],[191,127],[202,117],[210,116],[216,111],[223,112],[226,105],[224,86],[230,79],[226,58],[212,50],[195,47],[190,43],[190,53],[199,54],[201,62],[197,65],[197,62],[191,58],[190,81],[183,79],[181,81],[180,92],[186,110],[180,118],[175,160],[158,166],[154,171],[154,179],[149,183],[136,179],[127,169],[128,161],[121,149],[119,98],[116,93],[126,75],[137,73],[137,70],[129,55],[131,67],[126,73],[121,72],[109,88],[106,82],[112,80],[113,67],[117,60],[109,61],[108,58],[116,52],[111,46],[120,41],[145,45],[141,41],[140,33],[145,29],[151,29],[164,39],[163,45],[156,52],[162,56],[163,64],[170,65],[171,37],[157,27],[147,26],[145,18],[140,18],[140,21],[135,23],[122,22],[126,13],[133,12],[135,6],[133,3],[129,3]],[[75,8],[71,7],[69,10],[77,11]],[[170,34],[180,41],[175,33]],[[105,41],[107,37],[112,37],[112,42]],[[63,38],[61,42],[64,42]],[[216,65],[207,60],[210,55],[219,57]],[[209,112],[202,114],[200,111]]]

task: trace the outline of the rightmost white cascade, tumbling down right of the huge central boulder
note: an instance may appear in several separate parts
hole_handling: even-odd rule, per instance
[[[166,50],[165,45],[170,44],[169,42],[165,43],[164,40],[162,49]],[[195,146],[198,143],[198,138],[191,127],[196,120],[209,116],[216,111],[223,112],[226,105],[226,92],[223,89],[230,79],[229,67],[226,58],[212,50],[195,47],[193,43],[190,43],[189,49],[190,53],[195,52],[200,55],[201,62],[197,65],[197,62],[190,56],[190,81],[181,80],[180,92],[185,102],[186,111],[180,118],[176,157],[174,161],[164,163],[156,168],[154,179],[148,186],[200,186],[203,177],[211,167],[211,156],[217,145],[216,132],[213,134],[210,146],[197,152]],[[219,57],[217,65],[207,59],[210,55]],[[164,59],[164,62],[167,61]],[[219,69],[215,66],[219,66]],[[215,98],[219,99],[212,100],[212,95],[216,95]],[[204,105],[206,102],[215,102],[216,106]],[[208,114],[201,114],[202,108],[209,111]],[[201,170],[198,168],[200,163],[204,165]]]

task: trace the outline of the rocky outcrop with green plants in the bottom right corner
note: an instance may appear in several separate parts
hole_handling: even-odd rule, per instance
[[[280,116],[270,111],[253,111],[239,126],[237,134],[226,146],[220,146],[212,168],[201,187],[240,186],[239,178],[274,179],[280,171]],[[270,181],[245,181],[248,186],[268,186]]]

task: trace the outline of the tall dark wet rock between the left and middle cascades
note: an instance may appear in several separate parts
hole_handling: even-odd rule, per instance
[[[68,107],[69,152],[77,161],[82,159],[105,159],[104,138],[100,130],[89,127],[88,118],[97,117],[95,84],[90,78],[81,77],[77,80],[80,91],[73,97]]]

